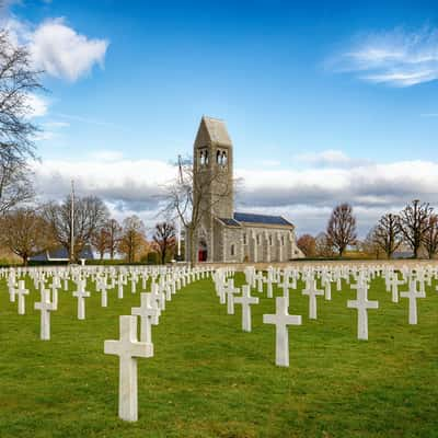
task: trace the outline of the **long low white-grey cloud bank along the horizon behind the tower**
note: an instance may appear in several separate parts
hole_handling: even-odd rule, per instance
[[[164,161],[134,161],[116,155],[110,154],[110,160],[36,163],[37,189],[45,198],[61,198],[74,178],[78,193],[101,196],[117,217],[136,212],[151,224],[157,220],[164,185],[176,175],[175,168]],[[235,176],[243,178],[237,209],[284,215],[297,224],[299,233],[323,230],[330,211],[342,201],[354,206],[362,235],[382,214],[397,211],[414,198],[438,201],[436,161],[298,171],[238,169]]]

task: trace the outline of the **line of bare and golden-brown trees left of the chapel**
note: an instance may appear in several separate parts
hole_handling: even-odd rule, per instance
[[[36,254],[58,247],[64,247],[77,262],[87,246],[101,260],[165,263],[174,255],[175,228],[171,222],[159,222],[148,241],[145,223],[138,216],[129,216],[119,223],[110,216],[105,203],[95,196],[74,198],[72,210],[68,196],[60,203],[4,211],[0,217],[0,244],[21,257],[24,264]]]

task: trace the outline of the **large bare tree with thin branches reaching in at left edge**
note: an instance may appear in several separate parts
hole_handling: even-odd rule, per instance
[[[33,93],[42,90],[25,47],[0,31],[0,214],[28,200],[33,191],[27,159],[35,158]]]

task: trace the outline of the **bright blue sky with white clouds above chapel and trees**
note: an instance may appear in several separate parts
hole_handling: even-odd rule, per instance
[[[437,200],[436,2],[22,0],[4,15],[47,71],[47,196],[79,174],[115,212],[151,221],[157,169],[191,153],[207,114],[227,122],[242,208],[299,232],[341,200],[362,233],[413,196]]]

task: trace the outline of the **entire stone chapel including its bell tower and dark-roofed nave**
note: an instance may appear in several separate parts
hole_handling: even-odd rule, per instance
[[[233,147],[222,120],[201,118],[193,166],[198,218],[193,241],[198,262],[270,263],[303,257],[295,226],[284,217],[234,211]],[[189,246],[186,260],[191,260]]]

